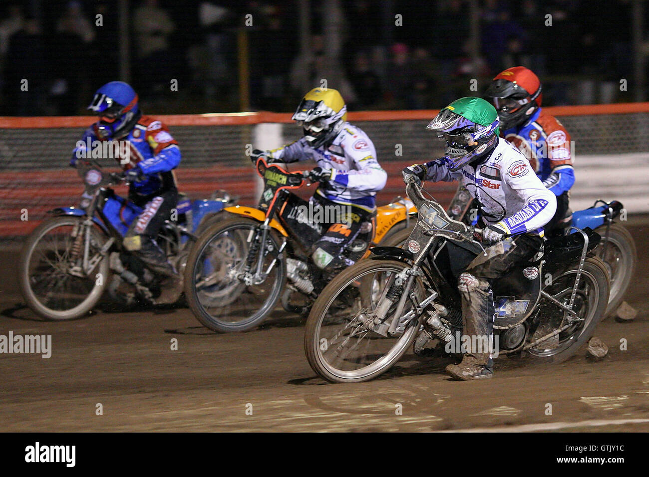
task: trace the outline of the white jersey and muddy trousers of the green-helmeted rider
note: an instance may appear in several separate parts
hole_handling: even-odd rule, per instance
[[[530,162],[511,143],[497,138],[484,154],[455,172],[444,160],[426,164],[426,180],[459,180],[480,207],[480,226],[495,225],[509,237],[475,256],[448,242],[452,271],[462,299],[463,332],[489,339],[493,333],[494,304],[491,287],[498,278],[528,261],[543,244],[543,226],[556,210],[556,199],[535,175]],[[471,349],[463,362],[491,367],[491,356]]]

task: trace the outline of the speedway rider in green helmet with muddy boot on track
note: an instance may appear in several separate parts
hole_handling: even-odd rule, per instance
[[[403,171],[406,184],[457,179],[478,201],[482,238],[494,243],[487,255],[475,257],[448,243],[452,271],[458,276],[463,332],[472,344],[478,343],[476,337],[491,342],[495,313],[491,287],[539,252],[543,226],[556,210],[554,194],[543,186],[525,156],[498,137],[499,123],[488,101],[458,99],[428,125],[446,140],[445,156]],[[488,351],[471,347],[459,365],[447,366],[447,373],[456,380],[491,378],[493,361]]]

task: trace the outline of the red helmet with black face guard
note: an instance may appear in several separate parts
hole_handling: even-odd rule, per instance
[[[501,130],[525,123],[541,106],[541,81],[531,69],[513,66],[501,71],[491,82],[487,92],[491,97]]]

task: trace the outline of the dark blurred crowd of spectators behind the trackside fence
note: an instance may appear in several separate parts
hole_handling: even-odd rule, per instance
[[[289,112],[327,85],[352,110],[439,108],[517,65],[545,104],[643,101],[649,8],[636,2],[8,1],[0,116],[84,114],[116,79],[158,114]]]

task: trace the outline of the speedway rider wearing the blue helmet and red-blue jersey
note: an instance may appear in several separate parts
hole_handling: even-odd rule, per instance
[[[182,280],[156,243],[156,237],[178,202],[172,172],[180,164],[178,143],[162,122],[142,116],[138,95],[125,82],[104,84],[87,109],[99,120],[84,132],[84,145],[75,148],[70,165],[74,166],[78,157],[90,152],[86,151],[86,143],[127,141],[128,161],[122,157],[117,161],[123,168],[123,177],[129,182],[130,201],[143,210],[129,226],[123,245],[158,276],[160,295],[154,303],[173,303],[182,291]]]

